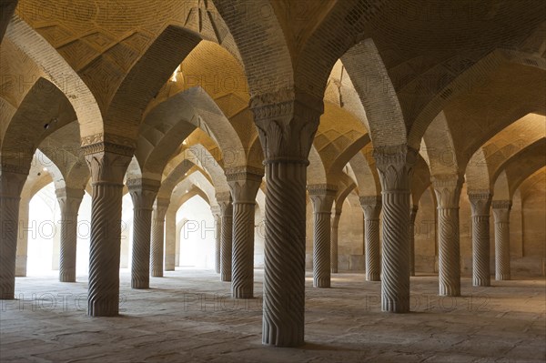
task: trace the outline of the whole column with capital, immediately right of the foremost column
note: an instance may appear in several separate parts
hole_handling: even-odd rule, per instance
[[[313,202],[313,287],[330,287],[330,215],[336,187],[308,186]]]

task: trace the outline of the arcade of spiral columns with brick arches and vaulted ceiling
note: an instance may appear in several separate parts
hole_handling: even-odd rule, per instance
[[[15,272],[25,269],[17,232],[28,213],[26,189],[36,183],[36,150],[56,165],[60,281],[76,280],[75,221],[85,191],[92,196],[91,317],[118,314],[125,192],[134,204],[131,287],[149,288],[150,276],[174,269],[167,235],[181,183],[209,186],[201,192],[215,217],[216,270],[230,281],[234,298],[254,297],[255,208],[259,190],[265,193],[264,344],[304,342],[308,201],[314,287],[330,287],[339,271],[339,220],[352,193],[364,220],[362,278],[380,281],[383,311],[409,312],[414,223],[420,195],[430,188],[438,293],[460,296],[463,186],[471,205],[473,286],[490,286],[491,240],[495,278],[511,278],[512,198],[546,164],[546,43],[537,42],[544,5],[503,5],[498,23],[487,29],[460,15],[455,20],[462,24],[446,30],[426,17],[395,26],[389,11],[403,2],[306,3],[308,17],[294,25],[280,15],[287,10],[280,2],[246,4],[246,12],[268,5],[277,15],[256,23],[227,1],[184,8],[167,2],[153,18],[144,4],[127,11],[127,24],[136,19],[138,31],[113,15],[97,18],[102,28],[89,32],[70,12],[41,19],[31,11],[35,3],[11,2],[2,19],[2,75],[34,76],[20,87],[5,86],[2,95],[2,298],[14,298]],[[207,24],[203,15],[210,15]],[[507,22],[517,25],[510,36],[501,31]],[[407,26],[415,46],[408,49],[401,39],[389,51],[392,26]],[[488,36],[478,47],[448,42],[431,51],[439,45],[421,44],[423,29],[444,40]],[[324,62],[315,64],[318,58]],[[450,81],[422,91],[430,72]],[[211,75],[245,85],[218,90],[217,78],[207,80]],[[483,78],[488,81],[476,81]],[[50,120],[55,125],[44,127]],[[524,136],[510,143],[516,133]],[[67,150],[64,159],[54,150]],[[203,183],[191,179],[197,176]]]

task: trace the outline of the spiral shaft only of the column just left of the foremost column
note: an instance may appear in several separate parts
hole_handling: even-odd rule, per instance
[[[233,204],[233,249],[231,295],[254,297],[254,208],[255,203]]]

